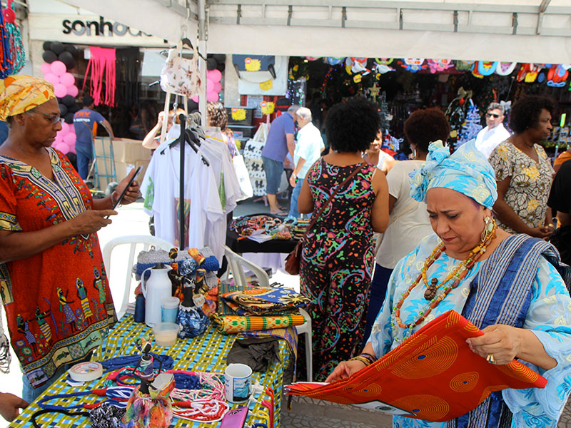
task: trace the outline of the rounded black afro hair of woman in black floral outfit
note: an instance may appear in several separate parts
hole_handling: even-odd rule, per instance
[[[377,108],[365,100],[338,103],[325,119],[327,141],[334,151],[363,152],[375,141],[380,129]]]

